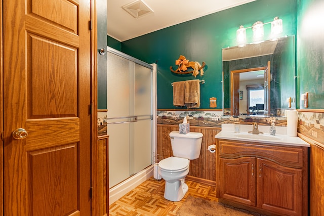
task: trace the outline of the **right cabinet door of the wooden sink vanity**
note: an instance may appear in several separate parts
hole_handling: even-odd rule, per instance
[[[302,215],[302,169],[257,159],[257,207],[278,214]]]

